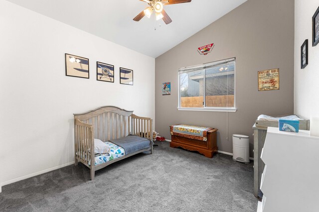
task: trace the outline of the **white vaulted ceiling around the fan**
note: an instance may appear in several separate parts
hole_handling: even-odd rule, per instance
[[[8,1],[156,58],[246,0],[192,0],[165,5],[172,19],[168,25],[155,21],[154,15],[134,21],[148,6],[141,0]]]

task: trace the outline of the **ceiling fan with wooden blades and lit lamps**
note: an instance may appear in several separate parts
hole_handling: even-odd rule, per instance
[[[169,24],[172,20],[170,17],[167,15],[165,10],[163,9],[163,5],[167,4],[176,4],[176,3],[187,3],[190,2],[191,0],[141,0],[145,1],[149,4],[149,6],[140,12],[133,20],[139,21],[141,20],[145,15],[150,18],[153,10],[155,11],[155,17],[156,20],[160,20],[161,18],[166,24]]]

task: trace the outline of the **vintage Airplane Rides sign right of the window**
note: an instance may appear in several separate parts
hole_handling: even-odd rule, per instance
[[[279,69],[258,72],[258,91],[279,90]]]

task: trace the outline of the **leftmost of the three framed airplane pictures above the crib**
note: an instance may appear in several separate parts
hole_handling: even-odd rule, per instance
[[[65,53],[65,75],[90,78],[89,59]]]

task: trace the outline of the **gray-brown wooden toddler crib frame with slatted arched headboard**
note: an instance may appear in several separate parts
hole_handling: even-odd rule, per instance
[[[94,138],[108,141],[128,135],[138,135],[152,141],[152,122],[152,118],[139,117],[133,114],[133,111],[116,106],[102,106],[88,112],[74,114],[75,165],[81,162],[90,168],[91,180],[93,180],[95,171],[114,162],[145,151],[151,151],[152,154],[153,145],[95,166],[94,151],[91,153],[88,151],[91,147],[94,149]],[[87,157],[81,158],[81,154]],[[91,164],[89,164],[91,158]]]

